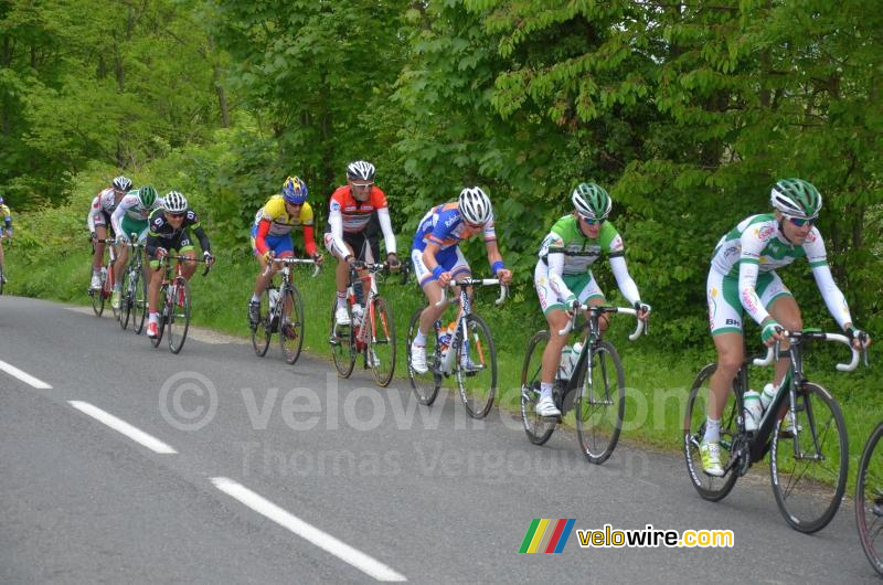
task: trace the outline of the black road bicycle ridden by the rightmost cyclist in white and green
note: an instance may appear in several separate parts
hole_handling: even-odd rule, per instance
[[[779,343],[764,359],[748,357],[733,380],[733,392],[721,416],[721,464],[723,477],[702,470],[699,445],[705,433],[709,379],[717,364],[703,368],[690,390],[683,422],[683,453],[690,481],[699,494],[719,501],[730,493],[736,479],[769,454],[769,475],[776,504],[785,521],[805,533],[825,528],[837,513],[847,486],[849,446],[843,414],[825,387],[804,373],[804,352],[811,341],[844,343],[852,351],[841,372],[854,370],[862,352],[839,333],[818,330],[783,331],[788,338],[788,372],[767,406],[756,430],[746,430],[743,395],[748,390],[748,365],[766,366],[779,358]],[[790,425],[780,425],[783,411]]]

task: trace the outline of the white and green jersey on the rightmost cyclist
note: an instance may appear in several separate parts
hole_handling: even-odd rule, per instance
[[[738,277],[742,262],[757,264],[760,273],[768,273],[797,258],[807,258],[812,268],[828,266],[819,230],[813,226],[806,242],[795,246],[779,233],[776,215],[762,213],[742,220],[717,242],[711,265],[722,275]]]

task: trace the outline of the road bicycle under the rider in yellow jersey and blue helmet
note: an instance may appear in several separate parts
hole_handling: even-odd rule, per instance
[[[269,348],[269,340],[273,333],[279,333],[279,347],[283,350],[285,361],[292,364],[300,357],[304,347],[304,300],[300,290],[291,278],[291,268],[298,264],[309,264],[316,266],[312,272],[313,278],[319,274],[320,267],[313,259],[305,258],[278,258],[273,262],[281,265],[281,285],[276,286],[273,281],[260,295],[260,308],[257,323],[252,329],[252,347],[255,353],[263,358]],[[272,269],[267,264],[265,276]]]

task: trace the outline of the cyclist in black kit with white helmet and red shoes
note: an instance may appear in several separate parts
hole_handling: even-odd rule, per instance
[[[200,241],[202,257],[206,264],[214,263],[214,256],[212,256],[209,236],[205,235],[196,213],[190,209],[184,195],[178,191],[169,191],[162,198],[162,209],[150,213],[148,224],[149,231],[145,249],[150,258],[150,267],[153,268],[153,273],[150,275],[148,288],[150,320],[147,323],[147,337],[156,338],[159,333],[159,313],[157,312],[159,287],[163,278],[163,270],[159,269],[159,259],[175,249],[181,256],[187,256],[189,259],[184,260],[182,272],[184,278],[189,280],[196,272],[196,263],[192,262],[195,255],[190,241],[191,230]]]

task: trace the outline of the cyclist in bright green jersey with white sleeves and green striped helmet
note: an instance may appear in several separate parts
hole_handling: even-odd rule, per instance
[[[555,372],[567,336],[558,334],[573,315],[574,305],[605,305],[604,292],[592,274],[592,265],[607,255],[620,292],[648,319],[650,306],[641,302],[638,286],[628,273],[623,237],[607,221],[613,200],[607,191],[595,183],[579,183],[571,194],[574,211],[561,217],[543,240],[540,262],[533,273],[540,307],[549,322],[550,339],[543,351],[540,377],[540,402],[536,414],[561,416],[552,395]],[[599,320],[602,332],[607,319]]]

